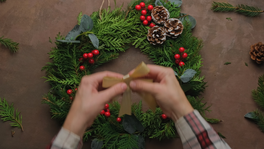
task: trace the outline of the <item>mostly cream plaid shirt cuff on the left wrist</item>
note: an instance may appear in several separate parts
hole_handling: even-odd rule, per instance
[[[82,145],[80,136],[62,127],[46,149],[81,149]]]

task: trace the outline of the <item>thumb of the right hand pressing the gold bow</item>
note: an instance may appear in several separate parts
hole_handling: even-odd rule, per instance
[[[134,91],[143,91],[152,94],[156,94],[159,90],[159,83],[147,82],[143,80],[130,81],[129,86]]]

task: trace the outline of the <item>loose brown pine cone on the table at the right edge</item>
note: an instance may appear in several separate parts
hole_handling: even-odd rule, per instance
[[[251,45],[249,54],[258,64],[264,61],[264,45],[262,42]]]

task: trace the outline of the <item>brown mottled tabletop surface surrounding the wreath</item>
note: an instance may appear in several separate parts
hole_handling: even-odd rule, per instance
[[[114,2],[110,0],[111,6]],[[77,24],[80,11],[90,15],[98,11],[102,0],[7,0],[0,2],[0,36],[5,35],[20,43],[20,52],[11,53],[0,45],[0,97],[23,115],[24,132],[12,128],[9,122],[0,120],[0,149],[44,148],[58,132],[60,125],[51,119],[50,108],[41,104],[44,93],[50,85],[40,79],[45,75],[41,68],[51,61],[48,53],[55,44],[58,32],[66,35]],[[117,6],[130,0],[117,0]],[[264,66],[257,65],[249,56],[249,46],[264,42],[264,13],[258,17],[247,17],[234,12],[213,12],[212,0],[183,0],[183,13],[195,17],[197,24],[193,34],[204,40],[201,67],[206,88],[205,97],[212,104],[208,117],[224,120],[213,124],[216,131],[227,137],[225,141],[233,149],[264,148],[264,133],[244,114],[259,108],[251,97],[251,90],[257,88],[258,77],[264,74]],[[219,1],[220,2],[220,1]],[[222,0],[233,5],[247,4],[264,10],[263,0]],[[107,7],[107,1],[103,8]],[[231,17],[232,21],[226,18]],[[100,66],[96,71],[111,70],[126,74],[140,61],[151,64],[139,49],[131,47],[120,54],[118,59]],[[223,65],[225,62],[229,65]],[[244,62],[248,63],[248,67]],[[134,97],[135,102],[139,97]],[[147,107],[144,106],[144,109]],[[15,131],[14,138],[11,130]],[[90,142],[83,148],[90,148]],[[147,140],[146,149],[182,148],[180,139]]]

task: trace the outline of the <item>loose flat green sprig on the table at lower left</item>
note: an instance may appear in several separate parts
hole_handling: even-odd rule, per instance
[[[19,118],[19,114],[20,114],[20,111],[17,112],[17,109],[16,109],[15,116],[14,116],[13,103],[11,104],[11,106],[9,106],[5,98],[3,99],[3,101],[0,98],[0,115],[3,117],[2,120],[3,121],[7,121],[7,120],[13,121],[15,123],[10,123],[11,126],[18,127],[19,129],[22,129],[22,131],[24,131],[22,127],[22,115]]]

